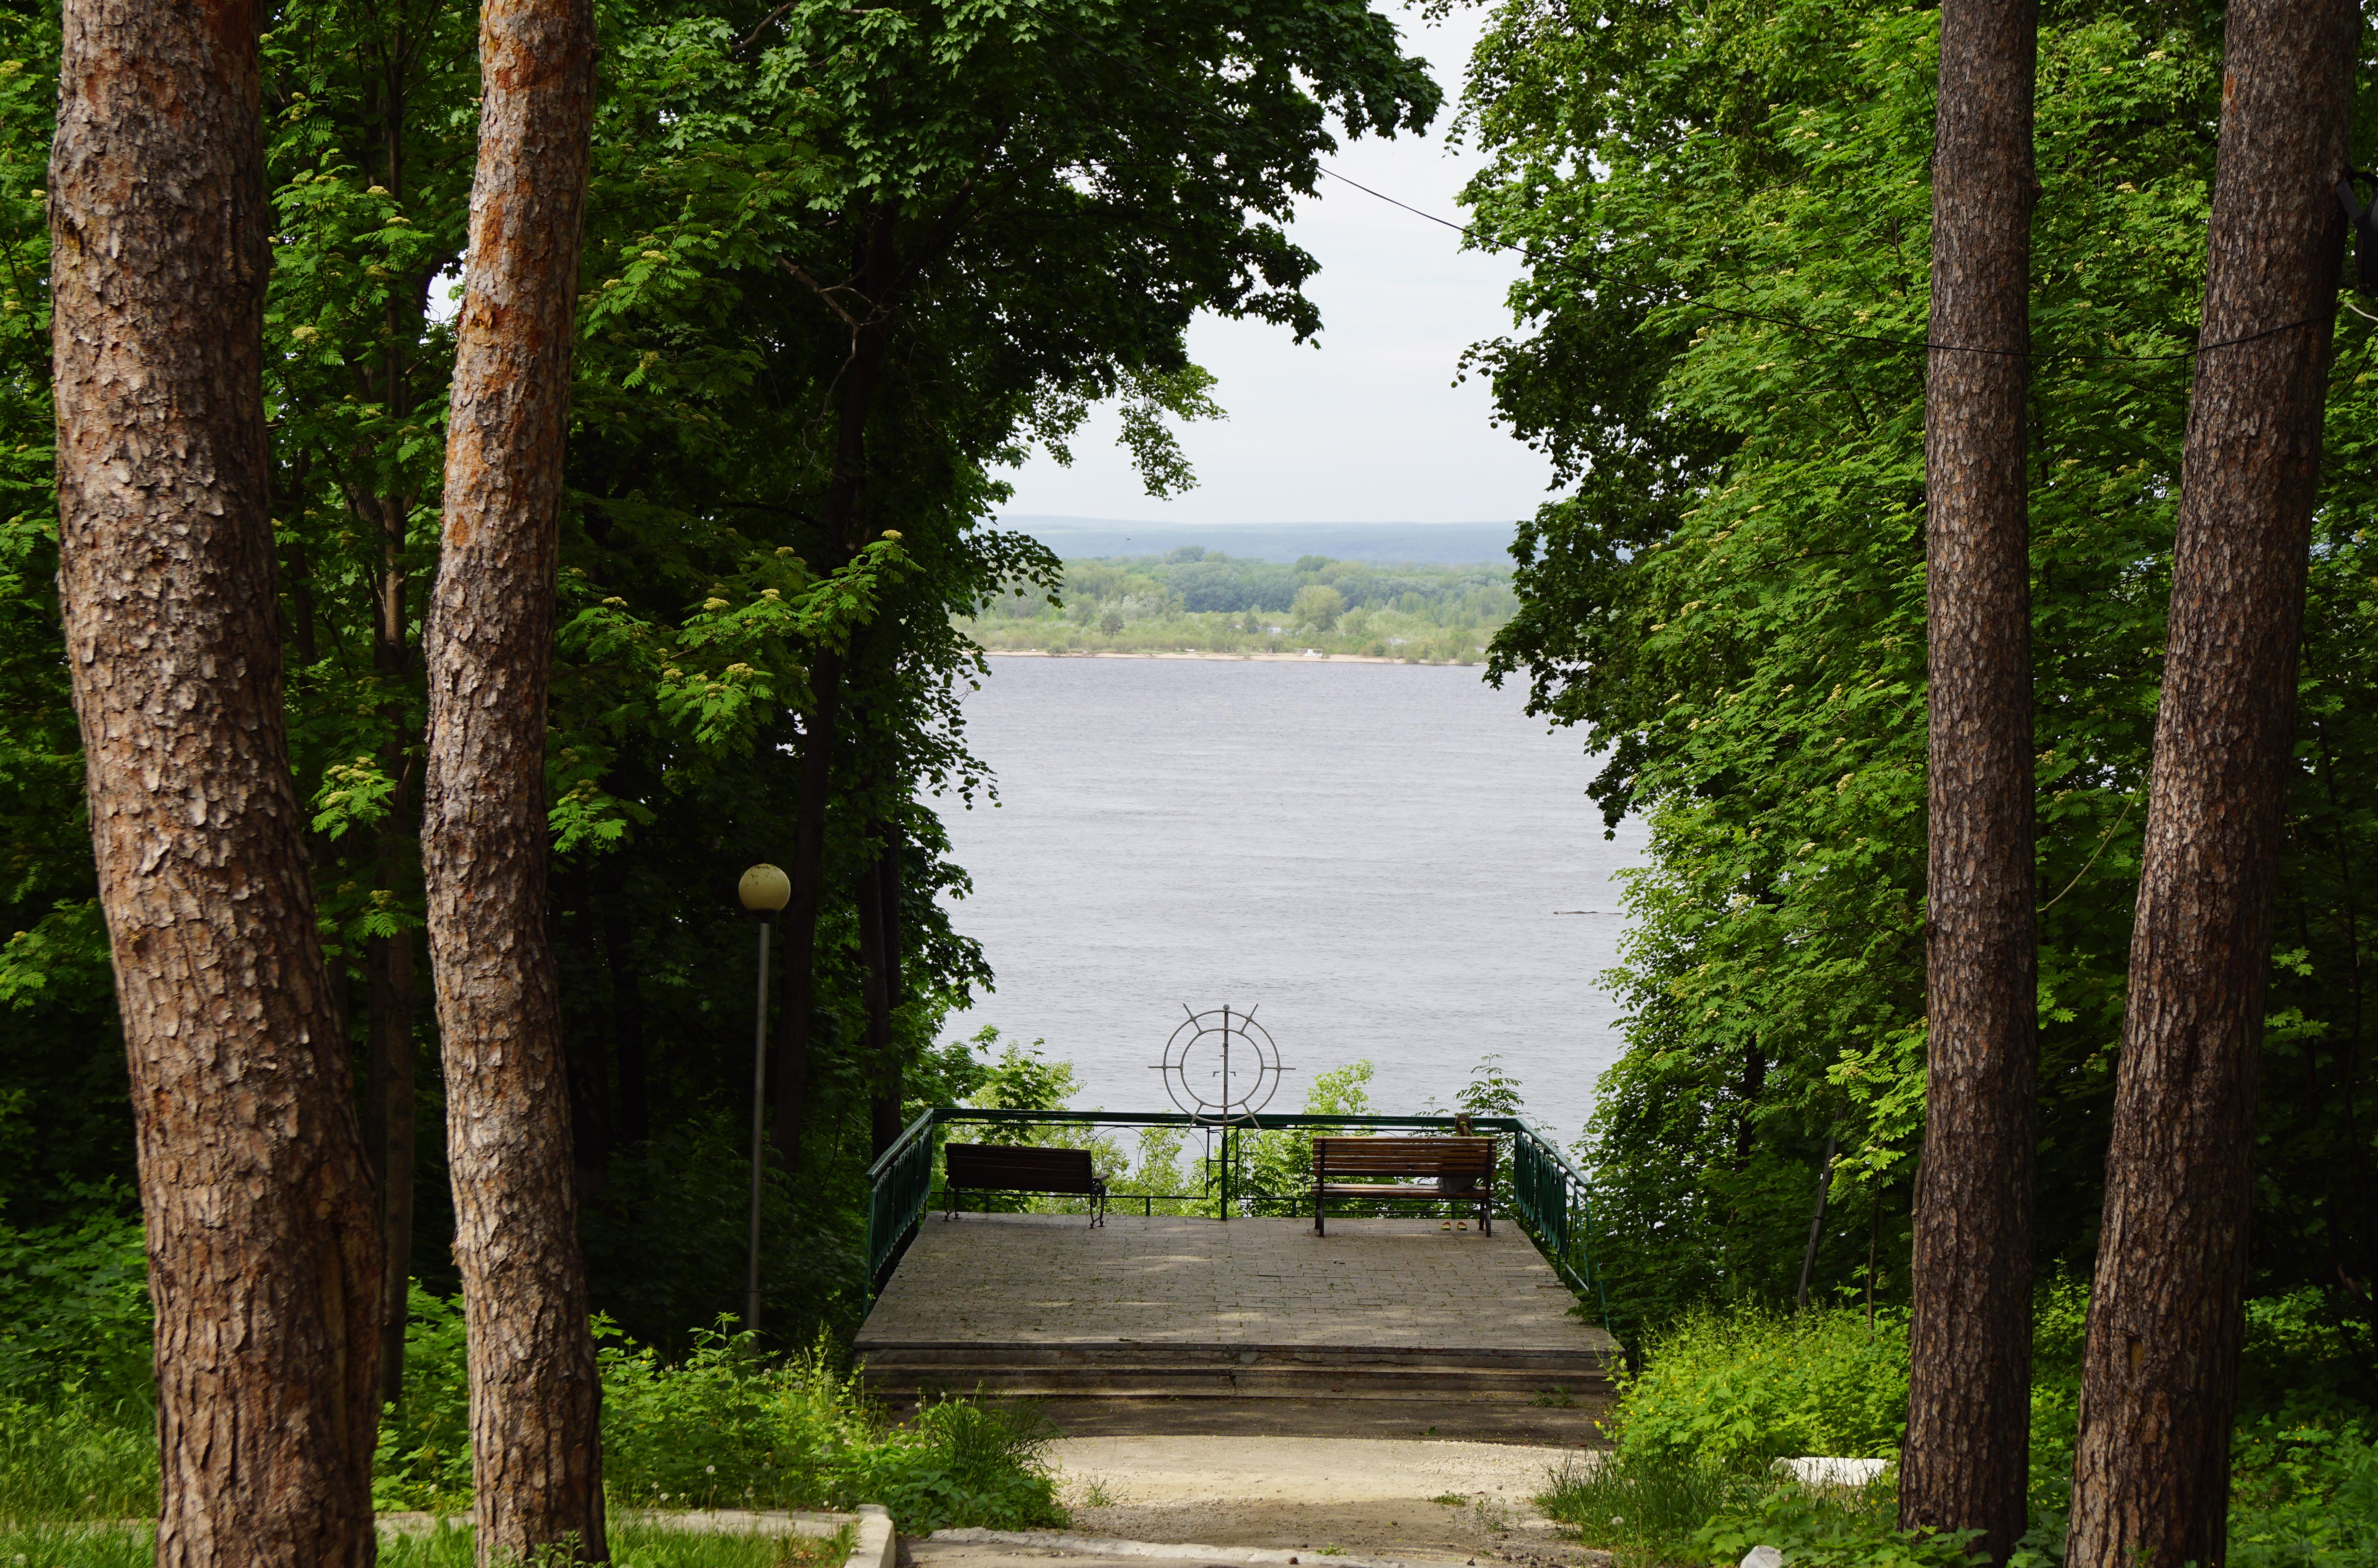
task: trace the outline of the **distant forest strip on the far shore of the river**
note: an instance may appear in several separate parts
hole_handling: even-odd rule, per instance
[[[1474,663],[1515,608],[1503,565],[1279,563],[1184,544],[1163,556],[1068,561],[1061,589],[1013,582],[958,625],[987,649],[1317,649]]]

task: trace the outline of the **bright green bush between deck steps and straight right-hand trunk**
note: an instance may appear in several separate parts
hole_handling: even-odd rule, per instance
[[[1907,1319],[1829,1309],[1696,1311],[1650,1335],[1622,1376],[1619,1449],[1662,1463],[1764,1471],[1791,1454],[1898,1454]]]

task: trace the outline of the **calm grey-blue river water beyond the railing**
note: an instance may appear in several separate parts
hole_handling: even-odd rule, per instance
[[[1046,1038],[1075,1105],[1168,1109],[1182,1005],[1256,1007],[1291,1071],[1451,1102],[1486,1052],[1574,1138],[1617,1055],[1612,872],[1577,734],[1451,665],[994,658],[968,696],[1001,805],[942,801],[999,991],[951,1022]],[[1558,915],[1555,910],[1593,910]]]

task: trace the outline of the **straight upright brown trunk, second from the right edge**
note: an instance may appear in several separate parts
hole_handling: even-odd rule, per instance
[[[2036,0],[1940,7],[1924,387],[1931,682],[1924,1202],[1900,1528],[2028,1523],[2038,889],[2031,758]]]

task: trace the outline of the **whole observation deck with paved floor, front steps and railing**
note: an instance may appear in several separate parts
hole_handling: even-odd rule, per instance
[[[942,1117],[939,1126],[977,1117],[1046,1126],[1056,1114]],[[916,1150],[935,1147],[932,1119],[911,1128]],[[1363,1131],[1346,1117],[1263,1121]],[[1410,1133],[1436,1119],[1360,1121]],[[1070,1437],[1598,1442],[1593,1416],[1610,1399],[1617,1342],[1593,1321],[1598,1281],[1584,1247],[1572,1240],[1569,1266],[1555,1266],[1562,1257],[1546,1245],[1555,1228],[1558,1240],[1584,1231],[1581,1178],[1560,1159],[1562,1207],[1548,1212],[1548,1171],[1534,1169],[1548,1145],[1505,1121],[1477,1119],[1479,1133],[1524,1147],[1501,1164],[1493,1235],[1446,1231],[1448,1214],[1413,1200],[1372,1214],[1332,1202],[1327,1235],[1313,1233],[1310,1214],[1282,1214],[1294,1195],[1239,1193],[1227,1205],[1206,1195],[1208,1212],[1227,1219],[1134,1214],[1153,1205],[1118,1197],[1101,1228],[1082,1214],[944,1219],[899,1205],[882,1219],[908,1209],[911,1224],[877,1233],[894,1245],[880,1254],[880,1295],[856,1342],[866,1385],[897,1409],[935,1395],[1034,1399]],[[908,1152],[911,1166],[920,1162]],[[877,1178],[887,1174],[880,1162]]]

